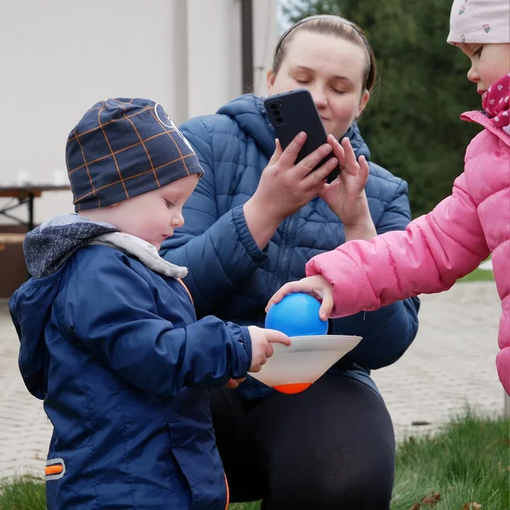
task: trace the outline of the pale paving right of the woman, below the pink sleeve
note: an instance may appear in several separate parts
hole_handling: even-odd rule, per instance
[[[373,372],[397,439],[437,429],[467,405],[502,414],[505,393],[494,362],[501,311],[494,282],[457,283],[421,296],[413,344],[397,363]]]

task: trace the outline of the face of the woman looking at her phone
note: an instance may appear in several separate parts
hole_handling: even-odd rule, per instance
[[[354,42],[301,30],[290,41],[278,74],[268,72],[267,91],[308,89],[324,129],[338,140],[368,103],[367,61],[365,48]]]

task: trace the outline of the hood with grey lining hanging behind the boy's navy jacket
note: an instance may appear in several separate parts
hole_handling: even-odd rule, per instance
[[[94,237],[116,228],[78,215],[52,218],[26,236],[23,244],[28,271],[34,278],[21,285],[9,300],[9,312],[20,339],[18,365],[28,391],[44,399],[49,356],[45,327],[60,285],[64,263]]]

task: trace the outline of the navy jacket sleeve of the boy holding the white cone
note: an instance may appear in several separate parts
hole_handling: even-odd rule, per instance
[[[145,273],[128,267],[114,250],[94,261],[94,271],[96,278],[77,274],[69,283],[62,320],[120,378],[169,398],[185,386],[222,386],[246,376],[251,363],[246,328],[211,316],[176,327],[158,313],[157,289]]]

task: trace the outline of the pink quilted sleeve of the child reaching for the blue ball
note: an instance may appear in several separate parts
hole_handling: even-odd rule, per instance
[[[477,205],[462,174],[451,196],[404,232],[320,254],[307,264],[307,274],[321,273],[334,285],[334,314],[341,317],[446,290],[488,255]]]

